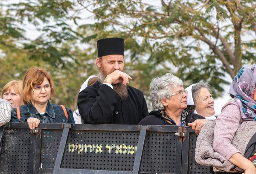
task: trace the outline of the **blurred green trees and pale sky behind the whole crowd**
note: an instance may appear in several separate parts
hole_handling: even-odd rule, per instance
[[[185,87],[207,81],[219,96],[225,75],[256,61],[253,0],[2,0],[0,8],[0,89],[40,66],[55,79],[54,102],[72,110],[96,75],[101,38],[125,39],[125,70],[145,95],[152,78],[170,72]]]

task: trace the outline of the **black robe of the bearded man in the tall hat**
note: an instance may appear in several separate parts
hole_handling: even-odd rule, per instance
[[[143,92],[128,86],[128,98],[97,81],[79,93],[78,108],[83,123],[137,125],[148,115]]]

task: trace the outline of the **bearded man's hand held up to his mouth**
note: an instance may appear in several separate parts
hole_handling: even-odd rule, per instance
[[[115,70],[113,73],[107,75],[103,83],[118,84],[122,82],[123,85],[126,85],[129,84],[129,79],[131,79],[131,77],[128,74]]]

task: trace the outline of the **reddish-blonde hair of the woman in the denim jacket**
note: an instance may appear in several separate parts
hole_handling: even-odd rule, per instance
[[[23,79],[23,95],[22,101],[24,104],[30,103],[30,94],[32,93],[32,89],[35,85],[41,85],[44,82],[44,78],[47,78],[50,85],[52,85],[51,96],[55,94],[55,86],[53,84],[52,76],[49,75],[44,69],[38,67],[32,67],[26,70]]]

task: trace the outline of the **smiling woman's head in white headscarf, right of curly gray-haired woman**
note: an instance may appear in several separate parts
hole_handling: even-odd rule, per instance
[[[204,116],[206,119],[216,119],[214,110],[214,101],[209,84],[199,82],[192,84],[185,90],[188,91],[188,105],[195,104],[194,113]]]

